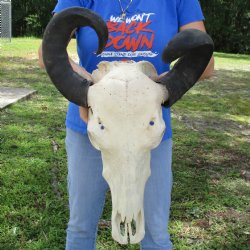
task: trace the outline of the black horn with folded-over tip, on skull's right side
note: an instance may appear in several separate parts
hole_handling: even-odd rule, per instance
[[[180,59],[157,81],[169,92],[164,106],[171,107],[199,80],[212,57],[213,48],[211,37],[196,29],[181,31],[169,42],[162,54],[163,61],[171,63]]]

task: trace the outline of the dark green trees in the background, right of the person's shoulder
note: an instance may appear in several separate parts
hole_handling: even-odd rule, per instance
[[[201,0],[216,51],[250,53],[250,1]]]

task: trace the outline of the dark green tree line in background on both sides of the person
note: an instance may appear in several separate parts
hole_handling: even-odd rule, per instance
[[[200,0],[215,50],[250,54],[250,1]],[[13,0],[13,35],[41,36],[57,0]]]

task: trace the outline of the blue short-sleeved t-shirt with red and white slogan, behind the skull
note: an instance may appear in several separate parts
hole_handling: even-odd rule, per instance
[[[122,0],[123,9],[130,0]],[[158,74],[169,70],[161,59],[166,44],[185,24],[203,20],[198,0],[133,0],[126,11],[126,19],[120,18],[122,10],[119,0],[58,0],[53,12],[69,7],[84,7],[98,13],[107,23],[109,41],[104,52],[96,56],[98,38],[91,28],[77,31],[77,51],[80,65],[88,72],[96,69],[100,61],[146,60],[151,62]],[[163,108],[166,124],[164,139],[172,137],[170,109]],[[79,107],[69,104],[66,126],[80,133],[87,132],[80,119]]]

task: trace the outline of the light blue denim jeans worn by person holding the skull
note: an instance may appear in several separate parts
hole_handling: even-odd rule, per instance
[[[100,151],[88,136],[67,129],[68,192],[70,219],[66,250],[93,250],[108,184],[102,176]],[[144,195],[145,237],[142,250],[169,250],[168,220],[172,188],[172,140],[151,153],[151,176]]]

